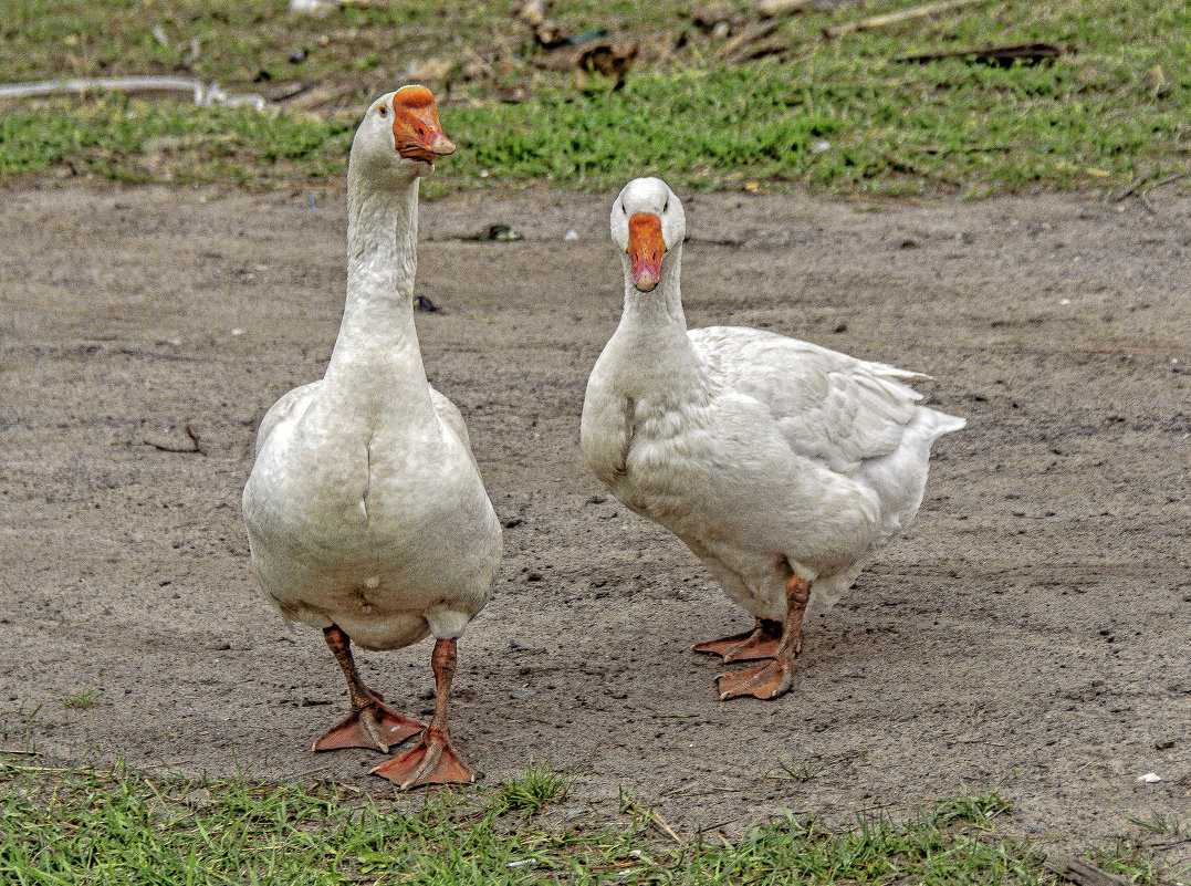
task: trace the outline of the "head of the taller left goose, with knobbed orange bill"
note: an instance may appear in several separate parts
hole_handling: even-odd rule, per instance
[[[438,123],[438,105],[424,86],[403,86],[372,104],[351,142],[351,164],[395,179],[430,175],[435,158],[454,154],[455,143]]]

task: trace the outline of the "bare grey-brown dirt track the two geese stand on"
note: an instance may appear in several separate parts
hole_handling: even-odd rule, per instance
[[[621,307],[611,198],[423,205],[428,372],[516,522],[451,710],[484,778],[550,761],[579,773],[566,821],[623,790],[729,836],[993,788],[1018,832],[1075,847],[1191,813],[1191,202],[691,200],[692,325],[930,373],[969,420],[910,532],[809,625],[794,691],[719,704],[688,648],[747,619],[579,453]],[[335,339],[342,195],[0,199],[0,747],[386,793],[379,755],[310,753],[342,678],[257,598],[239,517],[256,423]],[[498,222],[525,238],[461,239]],[[151,445],[187,426],[201,453]],[[364,655],[366,678],[417,713],[429,651]]]

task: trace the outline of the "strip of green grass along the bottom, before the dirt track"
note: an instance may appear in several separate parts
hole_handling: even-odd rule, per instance
[[[740,843],[676,841],[650,816],[566,831],[499,825],[499,810],[561,795],[536,770],[484,791],[374,799],[335,784],[150,779],[0,762],[6,884],[1054,884],[1029,843],[998,835],[1008,804],[958,797],[852,830],[788,817]],[[528,785],[536,785],[529,788]],[[513,788],[513,786],[517,786]],[[511,791],[512,788],[512,791]],[[634,810],[641,811],[634,804]],[[1120,866],[1147,882],[1148,860]]]

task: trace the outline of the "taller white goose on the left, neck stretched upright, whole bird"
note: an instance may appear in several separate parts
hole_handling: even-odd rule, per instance
[[[462,416],[430,387],[413,324],[418,180],[455,145],[434,95],[406,86],[364,114],[348,164],[348,297],[322,381],[266,413],[244,487],[252,566],[289,622],[320,628],[351,715],[314,750],[412,749],[373,772],[401,788],[470,781],[451,747],[455,641],[491,594],[500,524]],[[400,649],[426,634],[437,701],[430,725],[382,704],[351,641]]]

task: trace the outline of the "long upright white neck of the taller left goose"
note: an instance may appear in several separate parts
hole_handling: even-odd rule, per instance
[[[323,389],[367,412],[432,408],[413,324],[418,180],[348,170],[348,299]]]

